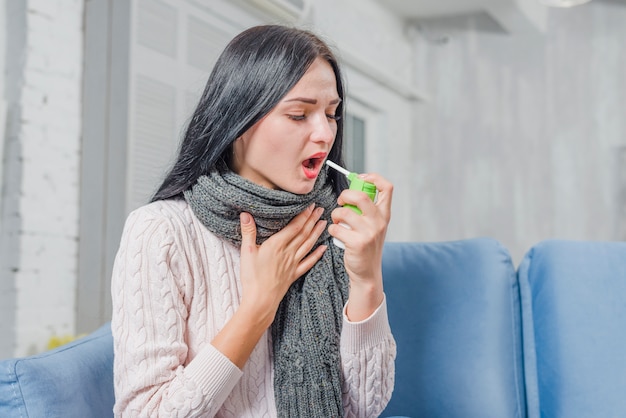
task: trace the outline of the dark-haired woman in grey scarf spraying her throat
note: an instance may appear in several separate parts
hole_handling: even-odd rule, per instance
[[[384,409],[393,187],[364,175],[373,203],[324,165],[342,161],[343,100],[337,61],[310,32],[259,26],[226,47],[173,168],[126,221],[112,278],[116,415]]]

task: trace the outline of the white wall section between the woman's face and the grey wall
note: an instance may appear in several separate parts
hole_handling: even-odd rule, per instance
[[[375,115],[367,138],[367,168],[394,184],[388,239],[410,240],[412,110],[422,99],[415,97],[420,86],[414,85],[415,62],[405,25],[375,1],[314,3],[313,29],[337,46],[344,64],[347,110],[358,101]]]

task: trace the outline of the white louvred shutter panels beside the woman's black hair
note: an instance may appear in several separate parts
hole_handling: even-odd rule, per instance
[[[209,72],[236,32],[194,2],[138,0],[133,12],[129,211],[145,204],[163,180]]]

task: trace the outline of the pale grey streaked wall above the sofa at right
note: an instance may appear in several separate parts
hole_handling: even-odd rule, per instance
[[[595,0],[550,10],[542,36],[422,26],[413,239],[491,236],[517,262],[543,239],[626,239],[624,22]]]

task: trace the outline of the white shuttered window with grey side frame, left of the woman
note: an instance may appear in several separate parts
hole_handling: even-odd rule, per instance
[[[78,332],[111,317],[111,269],[124,220],[155,192],[219,52],[249,25],[233,7],[85,3]]]

